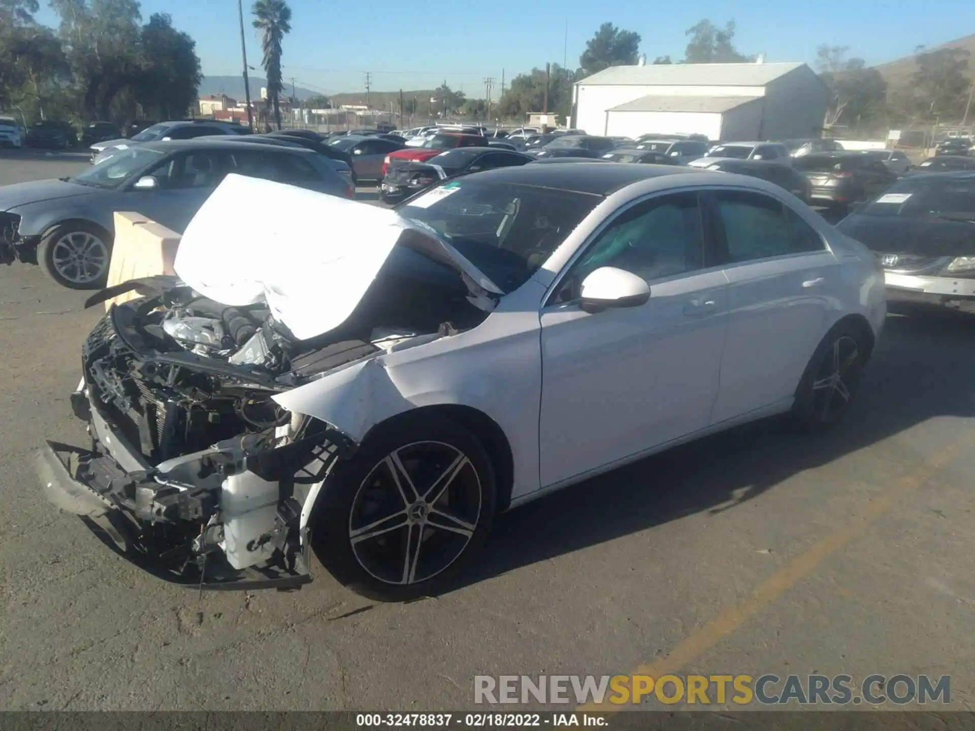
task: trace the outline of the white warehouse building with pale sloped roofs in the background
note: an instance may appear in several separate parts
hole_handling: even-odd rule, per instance
[[[648,133],[763,140],[818,137],[829,91],[805,63],[610,66],[576,82],[571,127],[588,135]]]

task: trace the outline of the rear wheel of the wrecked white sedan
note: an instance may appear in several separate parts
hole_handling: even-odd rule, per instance
[[[860,381],[867,347],[861,329],[839,323],[820,342],[796,389],[793,414],[811,431],[829,429],[846,413]]]

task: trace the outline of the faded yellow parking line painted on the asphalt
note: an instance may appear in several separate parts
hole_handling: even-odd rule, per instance
[[[684,637],[667,655],[654,660],[652,663],[641,665],[631,674],[660,677],[685,668],[689,663],[711,649],[723,637],[730,635],[752,616],[758,614],[765,606],[799,584],[825,558],[829,558],[857,538],[874,520],[897,505],[901,498],[916,490],[935,472],[947,466],[955,458],[958,449],[971,442],[973,437],[975,437],[975,432],[966,432],[964,438],[958,442],[949,444],[944,449],[932,454],[916,470],[897,481],[892,488],[866,503],[855,518],[814,543],[799,556],[793,558],[786,566],[761,582],[752,596],[737,606],[725,609],[708,624]],[[599,704],[589,703],[578,708],[579,711],[599,712],[621,711],[622,709],[622,705],[609,704],[605,701]]]

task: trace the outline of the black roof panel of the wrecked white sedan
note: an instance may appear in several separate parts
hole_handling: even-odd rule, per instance
[[[607,196],[649,177],[675,174],[697,175],[700,172],[681,166],[637,166],[587,160],[557,168],[535,163],[517,168],[495,168],[477,173],[476,179]]]

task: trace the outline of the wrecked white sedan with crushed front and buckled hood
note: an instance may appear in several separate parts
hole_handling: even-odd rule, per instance
[[[144,295],[86,340],[93,446],[48,442],[46,493],[178,583],[299,586],[313,547],[381,599],[448,586],[539,495],[772,414],[833,424],[886,311],[874,256],[781,188],[602,162],[397,211],[231,174],[175,267],[93,298]]]

